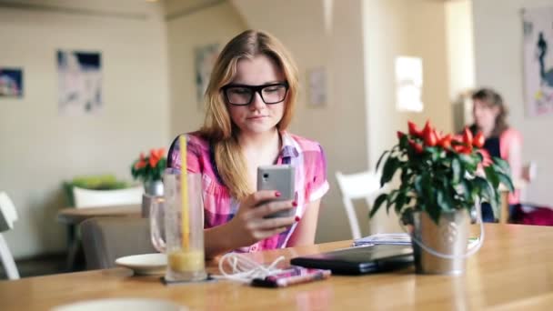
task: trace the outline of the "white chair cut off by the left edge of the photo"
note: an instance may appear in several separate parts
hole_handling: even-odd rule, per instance
[[[14,203],[5,192],[0,192],[0,232],[13,229],[15,220],[17,220],[17,212]],[[0,234],[0,259],[2,259],[7,277],[10,280],[18,279],[19,272],[15,266],[14,256],[7,247],[2,234]]]

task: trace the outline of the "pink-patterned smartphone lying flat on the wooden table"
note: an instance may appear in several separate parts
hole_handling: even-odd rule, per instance
[[[323,280],[328,278],[330,274],[330,270],[292,266],[291,268],[279,272],[277,275],[266,276],[265,278],[254,278],[251,285],[262,287],[286,287]]]

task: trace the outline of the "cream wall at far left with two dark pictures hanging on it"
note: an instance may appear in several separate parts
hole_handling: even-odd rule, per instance
[[[22,67],[25,84],[22,99],[0,99],[0,189],[19,214],[5,233],[15,257],[65,247],[65,227],[55,220],[65,207],[63,180],[101,173],[130,180],[139,152],[169,140],[159,7],[132,0],[35,3],[81,13],[0,7],[0,66]],[[120,15],[89,15],[99,11]],[[98,115],[58,115],[57,49],[102,53]]]

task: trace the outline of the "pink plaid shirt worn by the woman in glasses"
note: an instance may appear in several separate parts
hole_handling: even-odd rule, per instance
[[[306,138],[282,132],[282,149],[276,164],[290,164],[296,170],[296,216],[302,217],[307,205],[324,196],[328,191],[327,161],[322,147]],[[215,169],[213,150],[208,142],[189,133],[187,137],[187,170],[202,175],[204,192],[204,227],[210,228],[226,224],[236,215],[240,203],[230,196]],[[178,139],[172,145],[168,155],[168,166],[180,169],[180,147]],[[259,241],[252,246],[236,249],[238,252],[255,252],[265,249],[283,248],[296,230],[297,224],[287,231]]]

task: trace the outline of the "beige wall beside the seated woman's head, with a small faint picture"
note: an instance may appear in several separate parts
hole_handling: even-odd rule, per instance
[[[367,169],[361,2],[335,2],[327,32],[323,3],[332,1],[232,1],[249,27],[276,35],[299,66],[302,89],[290,131],[323,145],[330,183],[321,205],[317,242],[351,238],[335,172]],[[310,108],[307,71],[321,66],[327,69],[328,103],[323,108]],[[360,216],[367,217],[367,212]]]

